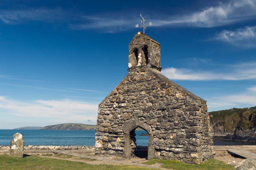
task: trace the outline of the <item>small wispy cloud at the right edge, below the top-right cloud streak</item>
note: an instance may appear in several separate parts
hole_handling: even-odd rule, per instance
[[[215,40],[227,42],[238,47],[256,47],[256,26],[248,26],[236,30],[223,30]]]

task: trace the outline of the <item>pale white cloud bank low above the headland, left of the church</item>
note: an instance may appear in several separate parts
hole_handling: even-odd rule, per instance
[[[77,119],[96,121],[98,105],[76,100],[19,101],[0,96],[0,108],[20,117],[58,119],[58,122]]]

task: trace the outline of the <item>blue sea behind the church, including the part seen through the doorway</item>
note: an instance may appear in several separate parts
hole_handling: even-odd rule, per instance
[[[94,146],[96,130],[4,130],[0,129],[0,145],[10,145],[14,133],[21,133],[25,145]],[[148,136],[141,136],[144,130],[135,130],[137,146],[147,146]],[[256,145],[256,143],[223,141],[213,138],[214,145]]]

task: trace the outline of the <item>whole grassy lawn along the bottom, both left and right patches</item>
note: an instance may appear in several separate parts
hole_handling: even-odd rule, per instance
[[[53,156],[52,154],[45,154],[45,156]],[[58,154],[56,157],[69,158],[69,155]],[[54,157],[54,156],[53,156]],[[93,159],[88,159],[88,161],[93,161]],[[161,167],[173,170],[234,170],[234,166],[226,165],[224,162],[219,160],[208,160],[200,165],[191,165],[181,163],[179,161],[170,160],[150,160],[144,162],[146,165],[153,164],[163,164]],[[84,162],[75,162],[67,160],[52,159],[49,157],[39,157],[39,156],[26,156],[11,157],[7,154],[0,155],[0,169],[1,170],[83,170],[83,169],[104,169],[104,170],[147,170],[151,168],[129,166],[129,165],[90,165]]]

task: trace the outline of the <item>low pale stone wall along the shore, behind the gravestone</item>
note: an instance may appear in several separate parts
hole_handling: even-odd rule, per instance
[[[10,149],[10,146],[4,146],[0,145],[0,149]],[[38,146],[38,145],[28,145],[24,146],[24,149],[29,149],[29,150],[93,150],[95,149],[95,146]]]

